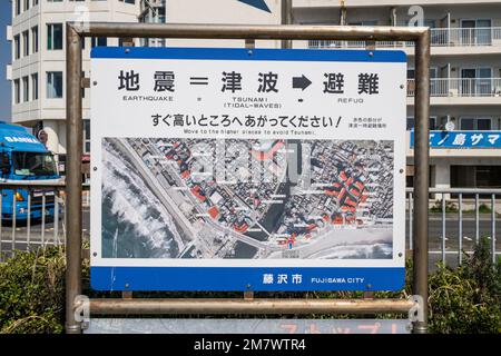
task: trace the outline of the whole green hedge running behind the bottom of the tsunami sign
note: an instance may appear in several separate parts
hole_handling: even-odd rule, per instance
[[[18,251],[0,264],[0,334],[62,333],[65,315],[65,257],[57,247]],[[374,298],[407,298],[412,295],[412,264],[406,264],[406,283],[401,291],[374,293]],[[97,293],[89,287],[89,265],[84,263],[84,294],[91,298],[120,297],[119,293]],[[431,333],[501,333],[501,260],[491,261],[489,240],[481,239],[473,256],[455,269],[439,266],[430,275]],[[242,293],[137,293],[135,297],[242,297]],[[256,293],[256,298],[363,298],[362,291]],[[257,317],[257,316],[255,316]],[[267,318],[271,316],[263,316]],[[327,318],[327,315],[308,317]],[[373,316],[340,315],[337,318]],[[379,315],[377,318],[406,317]]]

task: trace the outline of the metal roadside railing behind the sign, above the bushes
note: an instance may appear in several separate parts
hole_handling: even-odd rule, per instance
[[[89,207],[89,185],[84,185],[82,206]],[[22,201],[16,201],[17,208],[4,209],[2,202],[6,194],[12,190],[26,189],[30,191],[23,207]],[[47,245],[66,244],[66,186],[61,184],[37,184],[20,181],[19,184],[0,184],[0,256],[17,249],[31,249]],[[16,195],[14,199],[16,199]],[[448,257],[455,256],[455,263],[463,261],[463,253],[473,253],[474,245],[482,236],[491,239],[492,258],[501,255],[497,246],[498,214],[497,199],[501,197],[501,189],[468,189],[430,188],[430,255],[439,260],[448,261]],[[413,249],[413,199],[412,188],[406,189],[406,248]],[[3,201],[2,201],[3,200]],[[3,208],[2,208],[3,207]],[[499,205],[501,210],[501,204]],[[20,209],[23,208],[19,219]],[[52,209],[51,214],[35,214]],[[481,212],[489,211],[488,214]],[[434,212],[433,212],[434,211]],[[87,219],[88,220],[88,219]],[[49,226],[50,224],[50,226]],[[88,226],[84,226],[88,234]],[[465,233],[469,235],[466,236]],[[450,261],[450,258],[449,258]]]

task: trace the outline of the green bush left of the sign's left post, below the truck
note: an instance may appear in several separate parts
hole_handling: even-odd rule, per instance
[[[63,277],[59,248],[17,251],[0,264],[0,334],[61,333]]]

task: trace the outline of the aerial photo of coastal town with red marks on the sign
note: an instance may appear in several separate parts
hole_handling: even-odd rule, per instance
[[[104,138],[104,258],[392,259],[394,142]]]

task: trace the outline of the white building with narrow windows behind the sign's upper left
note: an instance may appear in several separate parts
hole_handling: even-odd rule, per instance
[[[32,128],[46,140],[65,168],[66,156],[66,22],[137,22],[139,0],[12,0],[12,122]],[[95,46],[120,46],[122,39],[87,38],[84,73],[89,76],[89,53]],[[84,152],[90,150],[89,89],[82,89]]]

